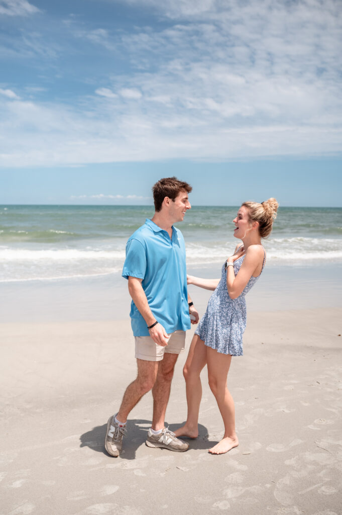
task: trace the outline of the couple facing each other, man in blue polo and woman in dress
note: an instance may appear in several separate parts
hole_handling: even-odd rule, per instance
[[[246,327],[244,295],[254,285],[265,264],[261,238],[272,230],[278,203],[244,202],[233,220],[234,236],[242,240],[222,267],[221,279],[187,276],[184,238],[173,227],[191,209],[192,187],[175,177],[154,184],[155,213],[129,238],[122,276],[128,279],[132,297],[131,323],[135,337],[138,373],[124,392],[121,406],[107,423],[105,448],[119,456],[127,434],[127,417],[141,397],[152,389],[153,420],[146,444],[171,451],[187,451],[189,444],[178,437],[196,438],[202,386],[200,372],[208,367],[211,391],[224,422],[223,439],[209,452],[223,454],[239,444],[235,409],[227,389],[231,356],[242,355]],[[171,432],[164,426],[173,370],[185,348],[185,331],[199,321],[187,284],[214,290],[207,311],[193,336],[184,376],[188,402],[185,425]]]

